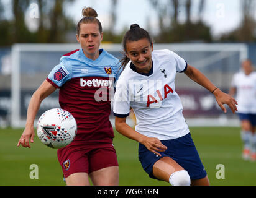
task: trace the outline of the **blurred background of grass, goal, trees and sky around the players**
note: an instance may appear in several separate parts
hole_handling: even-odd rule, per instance
[[[60,56],[80,48],[75,27],[85,6],[98,12],[101,47],[117,58],[124,32],[137,23],[149,30],[155,49],[175,51],[224,92],[242,60],[256,64],[255,0],[0,0],[0,185],[65,185],[57,150],[37,137],[33,149],[16,145],[32,93]],[[255,163],[241,157],[237,115],[224,114],[213,95],[184,74],[176,75],[176,91],[210,183],[255,185]],[[43,101],[37,118],[57,107],[58,91]],[[167,184],[144,173],[137,142],[115,134],[121,185]],[[39,166],[39,179],[29,177],[32,164]],[[219,164],[226,168],[224,179],[217,177]]]

